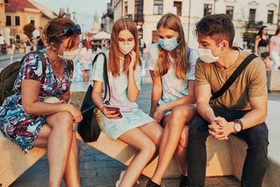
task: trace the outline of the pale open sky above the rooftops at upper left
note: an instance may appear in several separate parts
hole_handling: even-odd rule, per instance
[[[76,12],[78,24],[82,27],[82,30],[91,32],[92,22],[95,15],[95,11],[99,16],[99,22],[101,23],[102,13],[106,11],[107,3],[110,0],[34,0],[39,4],[49,8],[55,13],[59,13],[59,8],[64,8],[66,12]],[[73,17],[71,17],[73,18]]]

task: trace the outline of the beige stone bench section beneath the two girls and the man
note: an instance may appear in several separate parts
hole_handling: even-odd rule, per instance
[[[78,99],[78,97],[74,98]],[[263,187],[279,186],[280,184],[280,148],[277,145],[280,142],[278,135],[280,126],[277,123],[279,116],[276,114],[279,108],[280,102],[268,102],[266,120],[267,126],[269,127],[268,165],[262,183]],[[76,137],[82,141],[78,132],[76,132]],[[125,165],[130,164],[130,161],[136,153],[136,150],[131,146],[118,139],[116,141],[111,140],[104,132],[101,132],[98,141],[89,143],[89,145],[123,162]],[[230,135],[229,140],[225,141],[218,141],[213,137],[209,137],[207,139],[207,176],[232,175],[240,181],[247,148],[246,142],[238,139],[234,135]],[[153,176],[157,162],[158,158],[144,169],[143,174],[148,177]],[[173,158],[164,177],[172,178],[179,177],[180,175],[179,165],[176,159]]]

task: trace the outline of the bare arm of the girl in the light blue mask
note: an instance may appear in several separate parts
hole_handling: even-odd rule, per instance
[[[158,106],[158,101],[162,98],[162,79],[160,76],[155,76],[155,71],[150,70],[150,74],[153,79],[150,115],[153,116]]]

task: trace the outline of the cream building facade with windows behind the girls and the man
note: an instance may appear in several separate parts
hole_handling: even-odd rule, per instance
[[[158,41],[156,25],[165,13],[180,16],[188,46],[197,48],[195,23],[204,15],[227,13],[235,25],[235,42],[243,46],[245,32],[257,32],[262,25],[274,34],[279,20],[279,0],[111,0],[113,22],[128,16],[137,23],[147,46]]]

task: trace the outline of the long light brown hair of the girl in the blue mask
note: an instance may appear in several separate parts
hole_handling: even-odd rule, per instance
[[[157,29],[160,29],[160,27],[172,29],[179,33],[178,37],[181,38],[181,41],[179,41],[179,46],[175,49],[177,58],[174,65],[176,77],[184,80],[188,72],[188,46],[185,41],[185,34],[183,32],[181,20],[178,15],[167,13],[160,18],[160,21],[158,21]],[[158,49],[159,52],[158,60],[155,64],[155,75],[164,76],[169,71],[171,61],[169,60],[168,52],[164,50],[160,44],[158,45]]]

